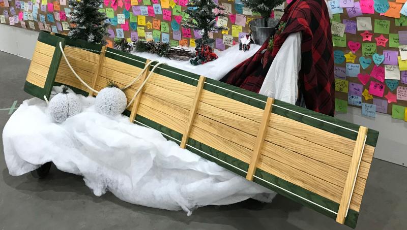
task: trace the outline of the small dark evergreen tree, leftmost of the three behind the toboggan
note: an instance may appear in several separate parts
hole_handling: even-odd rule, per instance
[[[70,21],[76,25],[69,28],[68,36],[71,39],[105,44],[103,37],[109,35],[109,23],[106,22],[106,14],[99,12],[102,3],[103,0],[69,0],[69,5],[74,9]]]

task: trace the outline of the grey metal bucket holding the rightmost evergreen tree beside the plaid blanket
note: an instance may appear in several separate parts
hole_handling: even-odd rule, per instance
[[[269,38],[270,35],[273,35],[275,32],[275,27],[278,23],[278,19],[269,18],[268,26],[264,27],[264,19],[257,18],[249,22],[251,37],[254,40],[254,43],[258,45],[263,45],[263,43]]]

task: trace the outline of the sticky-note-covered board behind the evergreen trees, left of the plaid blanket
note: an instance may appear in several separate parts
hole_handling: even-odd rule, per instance
[[[249,21],[259,16],[243,7],[240,0],[214,0],[225,9],[227,17],[217,24],[226,25],[227,32],[213,32],[216,48],[223,50],[239,42],[249,32]],[[111,26],[107,39],[128,38],[169,42],[172,45],[195,46],[199,31],[183,28],[181,22],[188,0],[104,0],[100,11],[106,13]],[[59,34],[69,32],[67,0],[0,0],[0,23],[17,27],[47,30]]]

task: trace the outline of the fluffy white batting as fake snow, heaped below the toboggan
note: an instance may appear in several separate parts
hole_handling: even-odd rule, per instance
[[[54,90],[60,90],[54,87]],[[82,175],[95,195],[107,190],[133,204],[188,215],[201,206],[255,198],[270,202],[272,191],[181,149],[156,130],[128,117],[107,117],[94,98],[79,96],[82,113],[62,124],[52,122],[45,102],[26,100],[3,131],[4,154],[13,176],[52,161],[65,172]]]

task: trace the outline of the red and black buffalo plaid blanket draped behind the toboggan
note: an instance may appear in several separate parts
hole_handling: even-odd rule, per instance
[[[274,37],[272,52],[261,53],[267,48],[266,40],[257,53],[240,63],[221,81],[258,92],[271,62],[285,39],[289,34],[301,32],[300,92],[308,109],[333,116],[335,109],[333,46],[325,1],[297,0],[291,2],[284,11],[280,22],[285,21],[287,24],[281,34]]]

